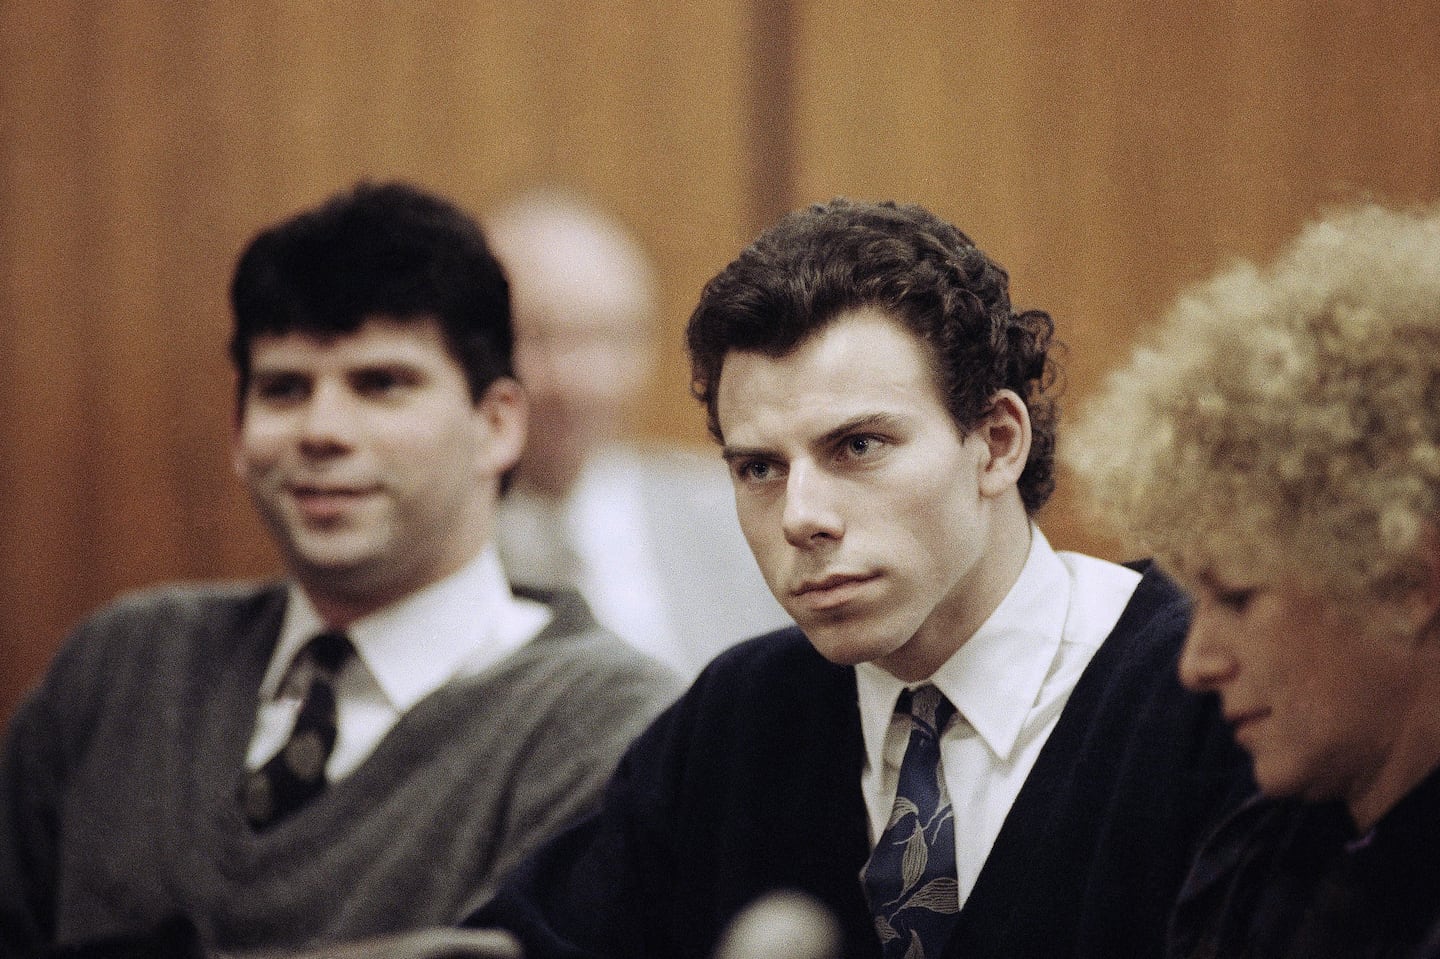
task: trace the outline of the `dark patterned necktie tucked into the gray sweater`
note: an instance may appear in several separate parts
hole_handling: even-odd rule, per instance
[[[323,632],[295,655],[291,672],[310,667],[310,690],[300,704],[289,742],[246,775],[240,802],[256,829],[314,799],[325,788],[325,762],[336,747],[336,674],[354,652],[343,632]]]

